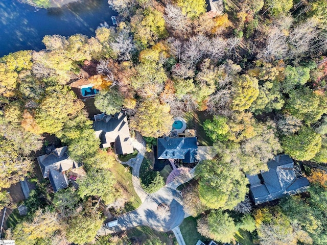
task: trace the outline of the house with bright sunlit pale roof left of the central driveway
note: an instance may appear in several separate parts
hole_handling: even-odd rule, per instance
[[[134,152],[124,113],[95,115],[93,129],[96,131],[96,136],[100,138],[100,148],[111,147],[112,143],[115,154],[126,155]]]

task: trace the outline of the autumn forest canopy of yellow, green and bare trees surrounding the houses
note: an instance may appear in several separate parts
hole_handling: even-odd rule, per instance
[[[183,190],[201,235],[232,242],[241,229],[263,245],[326,244],[326,1],[226,0],[221,13],[207,12],[204,0],[108,4],[118,26],[102,24],[93,37],[44,36],[43,50],[0,58],[1,208],[10,203],[7,188],[36,177],[45,138],[67,145],[86,171],[78,189],[52,193],[37,183],[25,201],[29,214],[6,238],[88,244],[103,224],[99,204],[120,208],[130,198],[116,156],[99,149],[92,116],[72,89],[83,78],[99,90],[97,110],[124,109],[130,129],[151,144],[174,117],[206,115],[196,122],[199,138],[217,155],[198,163]],[[311,187],[253,208],[246,175],[268,170],[283,153],[303,166]],[[156,191],[164,181],[151,175],[143,184]]]

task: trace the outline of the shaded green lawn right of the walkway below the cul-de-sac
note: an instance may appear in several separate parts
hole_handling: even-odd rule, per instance
[[[201,236],[196,228],[196,218],[185,218],[180,225],[180,232],[183,235],[186,245],[195,245],[198,240],[206,241],[205,237]]]

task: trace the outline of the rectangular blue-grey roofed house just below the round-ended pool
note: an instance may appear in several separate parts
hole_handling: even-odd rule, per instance
[[[196,137],[158,138],[158,159],[181,159],[185,163],[197,161]]]

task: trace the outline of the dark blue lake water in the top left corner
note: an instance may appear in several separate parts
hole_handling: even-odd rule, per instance
[[[44,48],[45,35],[94,36],[100,23],[112,26],[107,0],[80,0],[53,9],[36,9],[18,0],[0,0],[0,57],[19,50]]]

